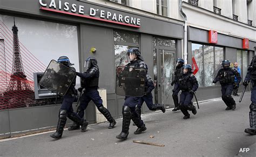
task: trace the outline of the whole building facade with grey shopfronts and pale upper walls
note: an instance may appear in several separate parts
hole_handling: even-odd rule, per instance
[[[44,72],[51,59],[68,56],[76,70],[84,72],[86,58],[95,57],[100,69],[99,87],[106,90],[107,108],[114,118],[121,118],[124,97],[115,93],[116,67],[129,62],[127,49],[138,47],[154,79],[154,103],[173,107],[170,84],[179,57],[197,70],[198,99],[217,98],[221,95],[220,86],[213,85],[212,78],[221,60],[238,62],[244,77],[255,54],[255,7],[254,0],[2,0],[0,77],[4,81],[0,92],[4,97],[13,69],[11,28],[15,17],[23,67],[31,85],[35,85],[33,73]],[[217,43],[216,38],[211,38],[216,34]],[[243,41],[247,41],[247,47],[243,47]],[[92,48],[97,51],[92,53]],[[34,88],[40,86],[36,84]],[[14,100],[8,100],[8,104]],[[12,108],[0,103],[0,107],[0,125],[6,126],[1,127],[0,136],[11,136],[56,125],[60,104],[35,100]],[[144,105],[143,113],[148,112]],[[91,124],[96,122],[92,103],[85,118]]]

